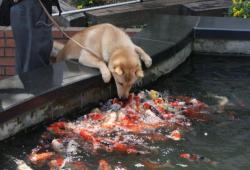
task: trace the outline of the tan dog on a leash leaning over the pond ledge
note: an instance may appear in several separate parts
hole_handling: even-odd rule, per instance
[[[150,56],[135,45],[124,31],[112,24],[88,27],[72,38],[97,56],[69,40],[65,46],[57,44],[62,48],[58,52],[57,61],[78,59],[85,66],[99,69],[105,83],[113,76],[120,98],[127,98],[136,80],[144,76],[140,60],[146,67],[152,65]]]

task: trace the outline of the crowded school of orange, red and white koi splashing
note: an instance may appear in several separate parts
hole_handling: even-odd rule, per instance
[[[51,124],[28,159],[33,166],[50,170],[93,169],[92,166],[98,165],[84,162],[83,156],[77,155],[100,156],[103,152],[128,156],[151,154],[157,152],[153,147],[155,142],[178,142],[184,132],[190,130],[193,121],[210,120],[208,106],[197,99],[162,96],[157,91],[146,90],[137,95],[130,94],[127,101],[110,99],[75,121]],[[192,158],[188,155],[181,157]],[[105,159],[100,159],[97,164],[100,170],[115,167]],[[161,167],[150,161],[142,161],[142,164],[149,168]]]

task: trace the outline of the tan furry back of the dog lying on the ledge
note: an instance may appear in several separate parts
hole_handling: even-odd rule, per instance
[[[105,62],[108,62],[110,53],[116,48],[129,48],[128,46],[133,45],[125,32],[111,24],[99,24],[83,29],[72,38],[84,47],[97,53]],[[59,43],[55,43],[54,45],[57,49],[62,48],[62,45]],[[78,59],[81,50],[81,47],[72,40],[69,40],[62,50],[59,51],[57,61]]]

